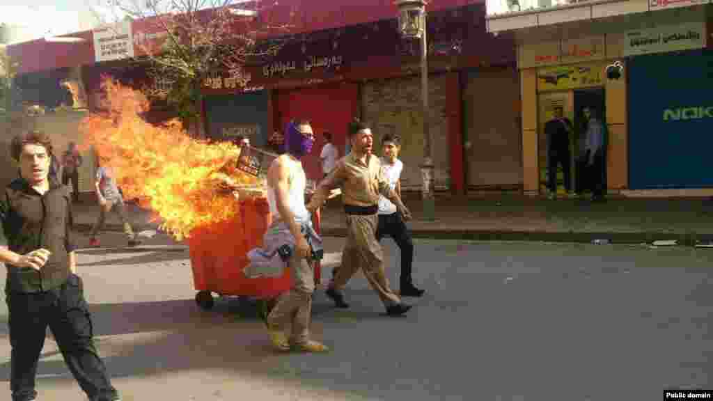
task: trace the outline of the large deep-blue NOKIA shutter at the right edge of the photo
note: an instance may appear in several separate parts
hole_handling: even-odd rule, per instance
[[[630,188],[712,188],[713,51],[637,56],[628,67]]]

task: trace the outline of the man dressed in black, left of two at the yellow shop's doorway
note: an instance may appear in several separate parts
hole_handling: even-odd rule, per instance
[[[555,106],[555,116],[545,123],[547,136],[547,171],[550,199],[557,198],[557,166],[562,166],[565,190],[570,193],[570,132],[572,123],[563,116],[562,106]]]

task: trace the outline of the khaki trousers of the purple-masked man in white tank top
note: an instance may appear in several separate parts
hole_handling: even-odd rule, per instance
[[[292,325],[292,344],[306,344],[309,341],[309,323],[312,315],[312,292],[314,273],[307,259],[293,255],[287,266],[292,275],[292,288],[277,297],[275,308],[267,315],[267,326],[271,330],[284,331]]]

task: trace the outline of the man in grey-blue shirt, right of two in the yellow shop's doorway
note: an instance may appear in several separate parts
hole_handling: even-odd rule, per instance
[[[585,131],[585,162],[587,167],[588,182],[592,188],[592,201],[601,202],[604,200],[605,183],[605,156],[604,138],[605,127],[599,118],[596,108],[585,108],[584,116],[587,121]]]

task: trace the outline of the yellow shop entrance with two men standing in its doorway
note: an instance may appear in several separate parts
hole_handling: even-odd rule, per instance
[[[625,78],[607,79],[607,65],[620,56],[618,37],[583,36],[540,41],[518,47],[523,97],[523,175],[525,193],[545,193],[548,151],[545,123],[562,107],[573,130],[569,137],[570,189],[574,189],[575,157],[586,129],[583,109],[590,108],[606,124],[606,182],[610,190],[627,187],[627,109]],[[558,164],[558,192],[565,191]]]

